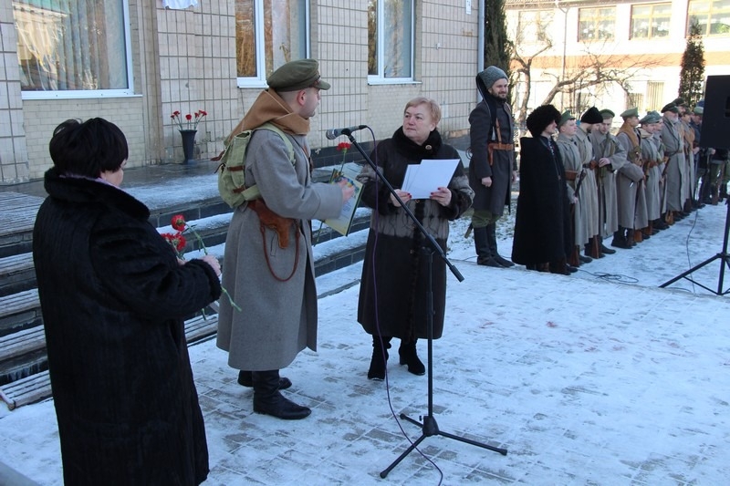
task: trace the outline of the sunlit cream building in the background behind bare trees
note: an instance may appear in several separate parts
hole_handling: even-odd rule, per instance
[[[507,0],[516,53],[516,104],[576,113],[661,109],[677,98],[690,25],[702,33],[705,76],[730,74],[730,4],[721,0]],[[518,63],[513,64],[516,69]],[[598,82],[614,78],[617,81]],[[560,83],[565,88],[556,90]]]

